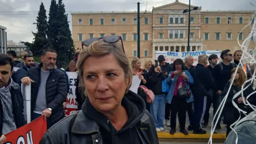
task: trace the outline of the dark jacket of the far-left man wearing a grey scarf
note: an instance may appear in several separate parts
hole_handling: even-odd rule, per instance
[[[14,82],[11,82],[14,83]],[[16,84],[17,85],[17,84]],[[14,121],[17,129],[26,124],[25,117],[23,113],[23,97],[21,93],[21,88],[18,86],[11,85],[10,89],[11,99],[12,99],[12,110],[14,115]],[[0,133],[3,130],[3,106],[0,101]],[[2,134],[0,134],[1,136]]]

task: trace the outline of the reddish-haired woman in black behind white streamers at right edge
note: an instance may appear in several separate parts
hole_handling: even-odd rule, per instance
[[[239,111],[234,107],[233,105],[233,97],[234,95],[241,91],[242,86],[244,82],[246,81],[246,74],[244,73],[243,68],[238,68],[236,75],[234,75],[236,71],[236,68],[231,70],[231,79],[226,84],[224,90],[221,92],[222,98],[224,98],[229,90],[230,82],[235,77],[233,84],[231,85],[231,90],[229,91],[228,98],[225,103],[225,107],[223,109],[223,117],[224,117],[224,123],[227,124],[227,133],[226,137],[228,136],[229,132],[231,131],[230,125],[235,123],[239,118]],[[245,84],[244,87],[247,87],[249,84]],[[252,109],[249,106],[245,106],[244,102],[246,102],[246,97],[252,93],[254,90],[252,89],[252,85],[250,84],[249,87],[247,87],[246,90],[243,91],[244,98],[242,98],[242,94],[239,94],[238,97],[234,99],[234,102],[238,105],[238,107],[247,113],[250,113]],[[254,95],[252,95],[248,100],[254,103]],[[241,118],[243,118],[245,115],[241,112]]]

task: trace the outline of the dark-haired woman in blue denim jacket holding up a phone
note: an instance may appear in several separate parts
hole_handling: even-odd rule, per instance
[[[188,131],[185,130],[186,124],[186,112],[189,106],[189,102],[194,101],[193,94],[189,88],[190,84],[194,84],[194,79],[185,68],[184,62],[181,59],[176,59],[173,62],[174,70],[170,71],[167,81],[171,81],[170,91],[167,94],[166,101],[171,103],[171,130],[170,134],[176,132],[176,116],[178,113],[180,132],[188,135]],[[187,92],[187,97],[182,97],[179,89],[184,88]]]

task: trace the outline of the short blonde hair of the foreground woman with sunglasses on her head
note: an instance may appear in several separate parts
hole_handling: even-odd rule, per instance
[[[78,60],[77,60],[77,69],[79,75],[79,87],[81,87],[85,91],[84,86],[84,62],[89,57],[103,57],[108,54],[113,54],[116,60],[124,70],[125,78],[128,81],[128,85],[126,87],[125,93],[131,87],[132,84],[132,70],[129,65],[129,60],[125,55],[122,45],[119,43],[106,43],[103,41],[96,41],[92,43],[90,46],[86,47],[85,49],[80,52]],[[86,94],[86,91],[85,91]]]

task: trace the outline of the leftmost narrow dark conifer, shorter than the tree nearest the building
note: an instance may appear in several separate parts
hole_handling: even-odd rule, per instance
[[[46,10],[44,8],[43,2],[41,2],[40,10],[38,12],[38,16],[36,18],[36,29],[37,33],[33,33],[35,36],[34,38],[34,55],[39,56],[42,53],[43,49],[47,49],[47,38],[46,38],[46,32],[47,32],[47,17],[46,17]]]

